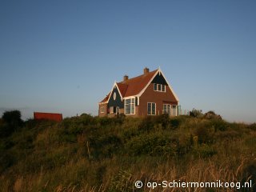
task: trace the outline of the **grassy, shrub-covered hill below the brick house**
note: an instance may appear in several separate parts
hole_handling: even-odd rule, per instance
[[[136,190],[134,182],[251,180],[254,188],[244,191],[255,191],[255,124],[225,122],[210,114],[196,110],[191,116],[177,118],[82,114],[62,122],[30,119],[21,124],[3,116],[1,133],[6,125],[16,128],[2,134],[0,140],[1,190],[152,191],[145,185]],[[160,186],[154,189],[162,190]]]

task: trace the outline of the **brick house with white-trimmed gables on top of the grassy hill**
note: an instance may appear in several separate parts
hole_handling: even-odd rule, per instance
[[[114,82],[110,93],[98,103],[98,116],[116,114],[177,116],[178,97],[160,68],[151,72],[145,68],[138,77],[125,75],[122,82]]]

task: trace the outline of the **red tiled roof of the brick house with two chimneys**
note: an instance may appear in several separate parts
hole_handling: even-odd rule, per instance
[[[153,70],[147,74],[142,74],[135,78],[127,79],[126,81],[118,82],[118,89],[120,90],[122,97],[129,97],[136,94],[139,94],[145,86],[150,82],[150,79],[153,78],[154,74],[157,70]],[[111,93],[111,91],[110,91]],[[110,93],[106,95],[106,98],[102,100],[102,102],[107,102]]]

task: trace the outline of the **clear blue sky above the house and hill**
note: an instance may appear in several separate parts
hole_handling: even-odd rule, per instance
[[[159,66],[182,109],[256,122],[255,1],[0,2],[0,114],[98,113]]]

